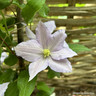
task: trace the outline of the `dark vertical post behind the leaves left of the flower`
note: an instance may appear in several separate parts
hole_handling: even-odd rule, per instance
[[[18,0],[19,4],[23,4],[23,0]],[[21,15],[21,9],[17,7],[17,22],[22,22],[22,15]],[[19,29],[19,30],[18,30]],[[23,25],[22,23],[17,24],[17,39],[18,43],[21,43],[24,41],[24,36],[23,36]],[[24,65],[24,60],[19,57],[19,69],[22,70],[25,68]]]

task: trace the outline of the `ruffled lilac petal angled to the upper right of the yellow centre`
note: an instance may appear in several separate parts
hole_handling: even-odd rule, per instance
[[[63,43],[65,38],[67,37],[65,30],[58,30],[56,31],[53,35],[52,38],[50,39],[49,42],[49,49],[51,51],[57,51],[63,48]]]

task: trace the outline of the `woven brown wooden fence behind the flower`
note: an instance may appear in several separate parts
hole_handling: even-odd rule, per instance
[[[85,6],[76,7],[77,3]],[[57,28],[65,28],[69,34],[68,43],[83,44],[92,50],[71,58],[73,72],[62,75],[61,79],[53,79],[52,84],[61,90],[69,88],[73,91],[77,89],[82,91],[83,87],[85,91],[93,90],[92,92],[96,95],[96,0],[47,0],[47,4],[51,5],[49,16],[53,16],[52,20],[55,20]],[[54,7],[53,5],[56,6],[56,4],[68,4],[68,7]],[[55,19],[54,16],[67,16],[67,19],[62,17]],[[41,20],[51,19],[42,18]],[[41,77],[44,78],[42,75]],[[49,83],[51,80],[46,82]]]

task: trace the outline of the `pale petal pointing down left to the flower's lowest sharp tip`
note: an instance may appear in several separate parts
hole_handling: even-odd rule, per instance
[[[40,71],[46,69],[48,62],[46,59],[40,58],[38,61],[29,65],[29,81],[32,80]]]

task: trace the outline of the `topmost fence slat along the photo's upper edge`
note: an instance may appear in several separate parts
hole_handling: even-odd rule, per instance
[[[46,0],[48,4],[61,4],[61,3],[68,3],[68,0]],[[86,4],[95,4],[96,0],[76,0],[76,3],[86,3]]]

